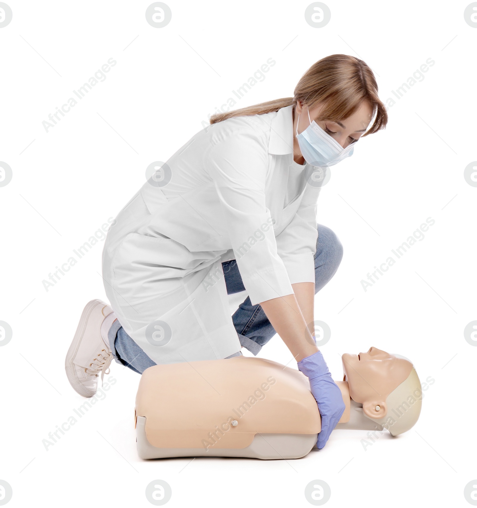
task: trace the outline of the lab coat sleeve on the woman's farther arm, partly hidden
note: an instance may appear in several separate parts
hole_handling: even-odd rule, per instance
[[[276,237],[277,252],[287,268],[290,282],[314,282],[314,255],[318,238],[316,202],[320,188],[307,184],[296,214]]]

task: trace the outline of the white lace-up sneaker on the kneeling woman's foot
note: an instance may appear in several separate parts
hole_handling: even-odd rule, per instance
[[[101,336],[101,325],[113,309],[101,300],[86,304],[65,361],[71,386],[83,397],[92,397],[98,390],[98,377],[109,374],[113,355]]]

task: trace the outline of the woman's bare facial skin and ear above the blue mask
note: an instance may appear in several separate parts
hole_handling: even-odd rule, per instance
[[[354,114],[348,116],[348,118],[340,120],[339,122],[331,120],[316,120],[323,107],[323,105],[320,105],[310,109],[310,119],[311,121],[315,120],[315,122],[343,148],[346,148],[349,143],[353,143],[354,140],[358,140],[366,132],[373,113],[371,106],[367,102],[363,102],[361,107]],[[293,122],[294,133],[296,133],[297,130],[298,115],[300,115],[300,121],[298,122],[298,134],[300,134],[310,124],[306,104],[302,106],[300,103],[297,103],[295,120]],[[295,151],[301,153],[296,136],[294,136],[293,144]]]

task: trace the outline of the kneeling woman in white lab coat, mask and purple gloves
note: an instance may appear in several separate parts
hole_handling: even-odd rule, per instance
[[[91,397],[113,357],[142,373],[231,358],[242,346],[256,355],[276,332],[310,380],[323,448],[344,405],[312,336],[313,299],[341,244],[316,224],[316,200],[328,166],[386,126],[374,75],[358,58],[331,55],[293,98],[210,123],[158,163],[116,217],[103,251],[111,306],[92,300],[83,310],[68,378]],[[244,290],[231,317],[227,295]]]

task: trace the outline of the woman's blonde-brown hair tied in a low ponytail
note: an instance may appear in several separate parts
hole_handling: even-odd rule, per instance
[[[363,101],[368,102],[376,117],[371,128],[361,137],[385,129],[388,114],[377,95],[374,74],[366,63],[355,56],[336,54],[318,60],[303,74],[295,87],[294,97],[263,102],[226,113],[215,113],[210,117],[210,123],[221,122],[234,116],[271,113],[292,105],[295,112],[297,102],[306,104],[310,109],[324,103],[317,119],[340,121],[355,113]]]

